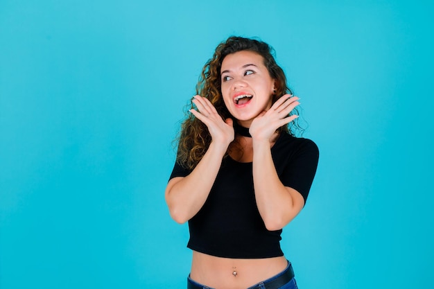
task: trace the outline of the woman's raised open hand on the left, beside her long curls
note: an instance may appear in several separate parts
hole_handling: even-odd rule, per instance
[[[207,125],[212,141],[224,146],[226,150],[235,137],[234,121],[232,119],[223,121],[214,105],[205,97],[196,95],[191,101],[198,107],[198,110],[189,111]]]

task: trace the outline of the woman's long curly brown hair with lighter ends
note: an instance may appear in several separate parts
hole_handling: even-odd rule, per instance
[[[270,73],[271,78],[275,79],[275,93],[272,94],[272,103],[275,103],[284,94],[293,94],[293,91],[287,85],[284,71],[276,63],[274,57],[275,51],[271,46],[252,38],[229,37],[225,42],[218,44],[213,57],[203,67],[198,84],[196,85],[196,94],[208,98],[223,119],[234,119],[234,117],[229,113],[223,101],[220,69],[223,59],[227,55],[238,51],[253,51],[262,56],[263,64],[268,69],[268,73]],[[192,103],[187,106],[188,110],[193,108]],[[186,118],[182,122],[180,134],[177,137],[177,162],[186,168],[193,169],[200,159],[202,159],[203,155],[205,155],[205,152],[207,152],[211,143],[211,135],[209,134],[207,125],[196,119],[188,110],[186,110]],[[290,114],[298,114],[298,112],[295,109]],[[295,119],[295,121],[288,125],[277,129],[277,132],[288,132],[295,136],[302,134],[303,129],[298,124],[297,119]],[[229,146],[229,150],[231,147]]]

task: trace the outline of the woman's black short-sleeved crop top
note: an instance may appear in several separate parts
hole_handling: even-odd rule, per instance
[[[306,202],[318,165],[318,147],[309,139],[282,133],[271,148],[284,186],[300,192]],[[191,170],[175,164],[173,177]],[[212,256],[260,259],[283,256],[281,229],[268,231],[254,198],[252,163],[226,157],[202,209],[189,220],[190,249]]]

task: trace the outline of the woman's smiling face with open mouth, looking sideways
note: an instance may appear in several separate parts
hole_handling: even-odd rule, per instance
[[[275,80],[253,51],[227,55],[221,67],[221,92],[227,110],[245,127],[272,105]]]

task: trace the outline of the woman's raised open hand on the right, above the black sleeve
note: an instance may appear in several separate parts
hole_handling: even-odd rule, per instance
[[[269,141],[278,128],[297,119],[297,115],[290,116],[289,113],[300,105],[299,99],[297,96],[285,94],[270,107],[270,110],[261,112],[250,125],[249,132],[252,138]]]

